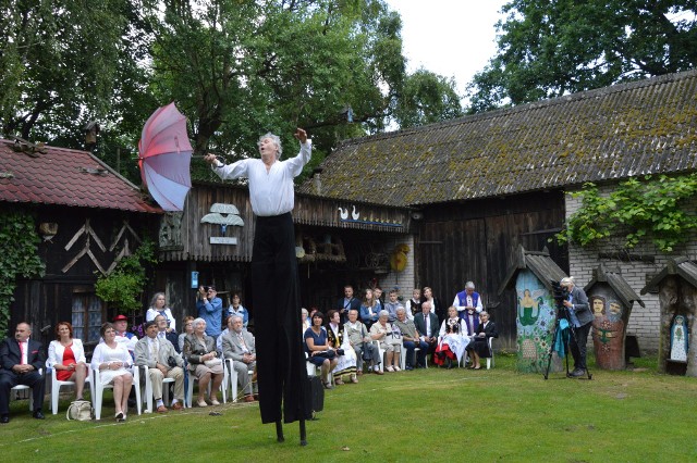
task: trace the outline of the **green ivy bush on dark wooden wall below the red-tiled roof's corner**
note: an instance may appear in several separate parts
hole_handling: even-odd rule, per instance
[[[157,263],[155,247],[151,239],[145,239],[133,254],[119,261],[110,274],[99,275],[95,285],[97,296],[119,313],[142,311],[146,270]]]

